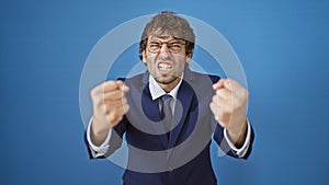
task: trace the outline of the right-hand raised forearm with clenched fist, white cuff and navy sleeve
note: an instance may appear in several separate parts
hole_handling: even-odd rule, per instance
[[[234,149],[236,154],[238,153],[237,157],[242,158],[253,139],[252,128],[246,117],[248,92],[231,79],[220,79],[213,89],[215,95],[211,109],[216,122],[224,128],[216,128],[215,139],[217,137],[216,141],[222,148]],[[224,150],[228,152],[228,149]]]

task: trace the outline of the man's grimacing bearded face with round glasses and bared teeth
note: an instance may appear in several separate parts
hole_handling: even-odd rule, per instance
[[[179,83],[190,60],[191,57],[185,55],[185,41],[172,36],[150,36],[143,51],[149,73],[167,92]]]

